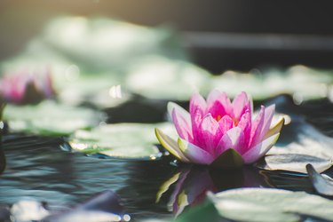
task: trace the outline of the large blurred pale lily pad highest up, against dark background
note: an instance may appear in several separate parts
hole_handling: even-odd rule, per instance
[[[171,28],[147,28],[107,18],[59,17],[46,26],[40,41],[93,71],[122,69],[149,54],[186,58]]]

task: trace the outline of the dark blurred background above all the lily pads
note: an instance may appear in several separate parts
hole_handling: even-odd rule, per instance
[[[38,34],[45,22],[57,15],[104,15],[146,26],[168,24],[184,36],[194,62],[220,73],[226,69],[288,67],[304,64],[333,67],[333,12],[331,1],[273,0],[0,0],[0,60],[20,52]],[[237,33],[253,37],[292,36],[295,47],[237,46],[231,37],[219,44],[197,44],[191,36],[200,33]],[[200,36],[200,35],[199,35]],[[306,48],[307,37],[313,47]],[[322,41],[324,37],[325,41]],[[210,41],[203,38],[202,41]],[[260,39],[258,40],[260,41]],[[297,42],[303,42],[298,45]],[[281,41],[283,43],[283,41]],[[226,47],[228,46],[228,47]]]

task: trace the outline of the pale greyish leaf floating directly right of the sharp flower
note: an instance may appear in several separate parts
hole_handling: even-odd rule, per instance
[[[281,143],[268,151],[265,163],[258,163],[266,170],[290,170],[306,173],[307,163],[322,172],[333,165],[333,139],[321,134],[305,121],[291,122],[286,129],[288,135]],[[287,128],[287,127],[286,127]],[[282,131],[283,132],[283,131]],[[286,140],[291,140],[288,143]]]

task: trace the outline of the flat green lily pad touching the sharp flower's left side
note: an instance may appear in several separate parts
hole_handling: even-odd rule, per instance
[[[75,131],[70,146],[87,154],[103,154],[125,159],[159,159],[162,154],[156,147],[155,127],[169,133],[175,131],[170,123],[116,123],[101,125],[91,131]]]

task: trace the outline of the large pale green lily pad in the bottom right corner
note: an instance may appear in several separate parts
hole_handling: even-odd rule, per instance
[[[233,220],[299,221],[299,214],[329,221],[333,218],[332,201],[305,192],[242,188],[218,193],[211,200],[222,217]]]

